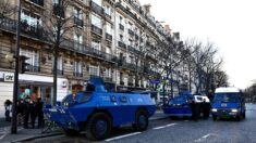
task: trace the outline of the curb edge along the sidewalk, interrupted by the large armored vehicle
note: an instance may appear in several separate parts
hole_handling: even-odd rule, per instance
[[[166,119],[166,118],[169,118],[169,116],[149,118],[149,120],[154,121],[154,120],[161,120],[161,119]],[[54,133],[48,133],[48,134],[40,134],[40,135],[28,136],[28,138],[23,138],[23,139],[20,139],[20,140],[15,140],[15,141],[12,141],[11,143],[27,142],[27,141],[32,141],[32,140],[36,140],[36,139],[56,136],[56,135],[61,135],[61,134],[64,134],[64,133],[54,132]]]

